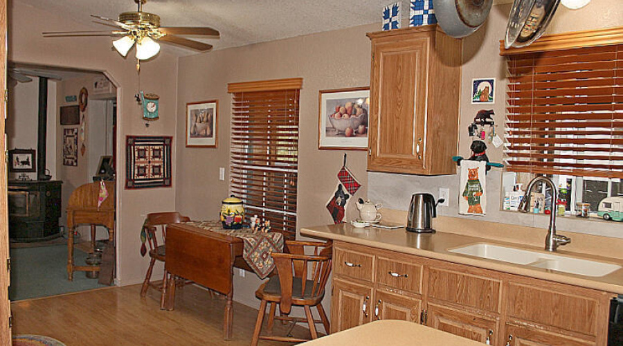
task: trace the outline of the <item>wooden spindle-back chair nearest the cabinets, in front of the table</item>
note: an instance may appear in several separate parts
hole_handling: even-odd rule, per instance
[[[315,325],[317,322],[321,322],[325,331],[329,332],[329,320],[321,302],[331,273],[332,243],[286,241],[285,245],[288,253],[272,254],[278,275],[271,277],[255,292],[255,296],[262,302],[251,340],[253,346],[258,345],[260,339],[290,342],[309,340],[288,336],[260,336],[268,303],[271,303],[267,324],[269,334],[272,334],[274,319],[294,323],[307,322],[312,339],[318,338]],[[276,304],[279,304],[282,316],[275,316]],[[293,305],[303,307],[307,318],[288,316]],[[311,307],[318,309],[320,320],[314,320],[311,316]]]

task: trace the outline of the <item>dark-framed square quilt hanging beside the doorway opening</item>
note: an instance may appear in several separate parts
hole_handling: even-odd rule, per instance
[[[127,136],[125,188],[171,186],[170,136]]]

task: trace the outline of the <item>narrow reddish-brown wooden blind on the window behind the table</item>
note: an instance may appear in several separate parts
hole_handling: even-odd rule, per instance
[[[296,237],[299,90],[235,92],[232,102],[231,190],[246,217],[269,219]]]

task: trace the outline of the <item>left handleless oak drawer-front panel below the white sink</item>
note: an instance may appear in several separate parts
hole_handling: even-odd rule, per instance
[[[464,307],[500,312],[501,282],[485,271],[465,266],[428,268],[428,297]],[[512,300],[511,300],[512,301]]]

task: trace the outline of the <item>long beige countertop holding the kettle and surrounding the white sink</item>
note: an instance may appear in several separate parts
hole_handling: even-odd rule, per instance
[[[374,248],[383,248],[390,251],[418,255],[446,262],[467,264],[470,266],[501,271],[504,273],[524,275],[552,282],[561,282],[563,284],[586,287],[588,289],[597,289],[610,293],[623,294],[623,268],[602,277],[590,277],[552,271],[545,268],[536,268],[527,265],[488,260],[470,255],[451,253],[448,251],[448,249],[459,248],[470,244],[487,243],[536,251],[540,253],[549,253],[544,251],[542,247],[539,248],[536,246],[519,244],[517,242],[504,242],[501,239],[488,239],[474,237],[473,235],[449,233],[444,232],[439,228],[437,228],[437,233],[417,234],[407,232],[405,228],[397,228],[393,230],[374,227],[354,228],[350,224],[306,227],[300,229],[300,234],[307,237],[334,239],[337,241],[360,244]],[[557,253],[557,255],[581,258],[585,260],[595,260],[623,266],[623,260],[620,258],[602,257],[589,253],[573,253],[570,251],[564,251],[563,253],[561,251]]]

